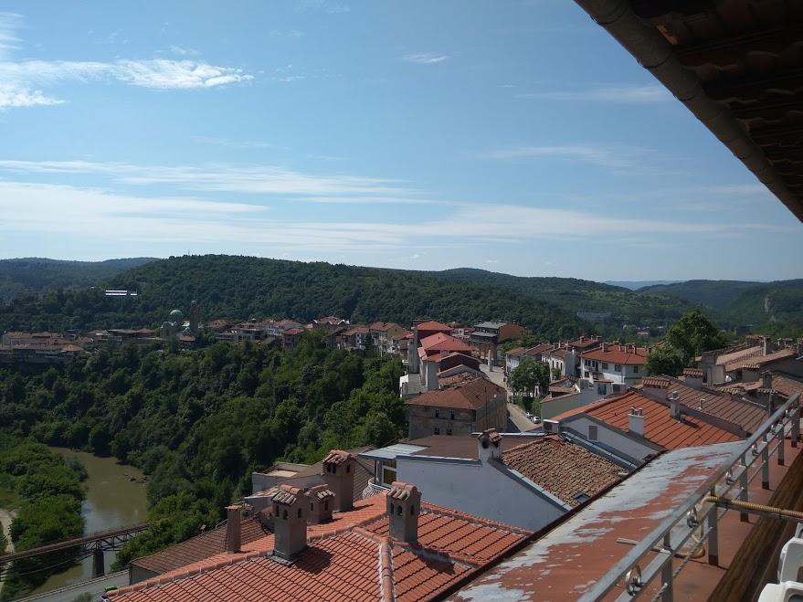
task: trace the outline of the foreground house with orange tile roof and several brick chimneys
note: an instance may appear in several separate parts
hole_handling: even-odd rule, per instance
[[[133,561],[162,572],[105,596],[114,602],[203,599],[210,592],[218,600],[430,599],[531,534],[424,502],[417,487],[403,482],[342,505],[337,491],[350,491],[345,469],[353,464],[350,454],[333,450],[324,459],[324,486],[280,485],[255,521],[229,506],[225,533]]]

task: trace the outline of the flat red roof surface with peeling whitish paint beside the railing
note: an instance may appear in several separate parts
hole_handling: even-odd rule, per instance
[[[576,600],[658,527],[744,442],[675,449],[654,459],[454,600]]]

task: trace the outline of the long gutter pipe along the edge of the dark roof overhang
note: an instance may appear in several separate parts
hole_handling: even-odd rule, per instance
[[[629,0],[575,0],[583,10],[605,27],[644,69],[670,90],[703,125],[749,169],[770,192],[803,221],[803,202],[766,159],[745,128],[703,90],[703,84],[691,69],[675,55],[675,48],[652,26],[647,26],[630,6]]]

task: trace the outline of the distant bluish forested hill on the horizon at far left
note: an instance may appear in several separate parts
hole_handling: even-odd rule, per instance
[[[10,301],[22,292],[40,293],[99,285],[128,269],[153,261],[151,258],[106,261],[61,261],[58,259],[0,259],[0,301]]]

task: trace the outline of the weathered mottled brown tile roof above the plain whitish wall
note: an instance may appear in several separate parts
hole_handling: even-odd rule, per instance
[[[502,451],[504,463],[546,491],[576,506],[618,481],[619,467],[564,438],[537,438]]]

